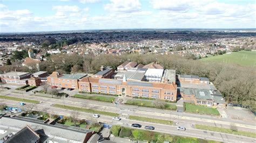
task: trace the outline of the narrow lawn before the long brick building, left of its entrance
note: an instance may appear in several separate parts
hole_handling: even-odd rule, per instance
[[[107,97],[107,96],[97,96],[97,95],[90,96],[90,95],[79,95],[79,94],[74,95],[74,97],[89,99],[93,101],[102,101],[102,102],[113,102],[114,99],[116,99],[114,97]]]

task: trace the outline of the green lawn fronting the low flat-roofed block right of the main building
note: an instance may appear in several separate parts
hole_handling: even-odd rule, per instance
[[[207,107],[204,105],[195,105],[192,103],[185,103],[185,111],[193,112],[193,113],[200,113],[200,114],[208,114],[208,115],[220,115],[220,113],[217,109]]]

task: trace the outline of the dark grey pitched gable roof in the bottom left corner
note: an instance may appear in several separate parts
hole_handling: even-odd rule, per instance
[[[35,143],[40,139],[39,135],[33,131],[30,127],[25,126],[24,128],[22,128],[21,131],[18,131],[16,134],[12,135],[12,137],[10,137],[9,139],[5,140],[4,143],[13,143],[13,142],[17,142],[17,143],[24,143],[24,142],[28,142],[28,143]]]

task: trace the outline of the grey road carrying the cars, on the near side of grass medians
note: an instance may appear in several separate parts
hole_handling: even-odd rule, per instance
[[[1,103],[5,103],[10,106],[19,106],[16,101],[8,101],[0,99]],[[57,115],[64,115],[64,116],[70,116],[72,111],[71,110],[65,110],[65,109],[59,109],[54,108],[51,106],[51,103],[44,102],[41,104],[26,104],[25,106],[20,106],[21,108],[31,107],[33,106],[33,110],[37,111],[45,111],[52,114]],[[85,113],[85,112],[79,112],[78,117],[80,119],[88,119],[88,120],[95,120],[95,121],[101,121],[107,124],[111,125],[122,125],[131,127],[131,124],[138,123],[142,125],[142,129],[146,125],[152,125],[156,129],[157,132],[162,133],[168,133],[173,135],[181,135],[185,137],[196,137],[201,139],[207,139],[207,140],[217,140],[217,141],[223,141],[223,142],[256,142],[254,138],[248,138],[243,137],[240,135],[233,135],[233,134],[226,134],[226,133],[218,133],[218,132],[212,132],[212,131],[203,131],[203,130],[197,130],[196,128],[187,127],[186,131],[178,131],[177,126],[170,126],[170,125],[163,125],[163,124],[154,124],[154,123],[147,123],[145,121],[134,121],[130,119],[126,119],[125,117],[121,117],[122,120],[120,121],[113,121],[112,117],[109,116],[103,116],[101,115],[99,118],[93,118],[91,113]],[[186,126],[184,123],[179,123],[180,126]]]

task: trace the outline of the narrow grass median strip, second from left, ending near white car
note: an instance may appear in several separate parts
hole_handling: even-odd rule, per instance
[[[75,110],[75,111],[81,111],[81,112],[87,112],[87,113],[97,113],[99,115],[106,115],[106,116],[112,116],[116,117],[117,113],[113,112],[105,112],[105,111],[99,111],[99,110],[93,110],[93,109],[86,109],[86,108],[80,108],[76,106],[68,106],[68,105],[62,105],[62,104],[54,104],[53,105],[56,108],[62,108],[62,109],[69,109],[69,110]]]

